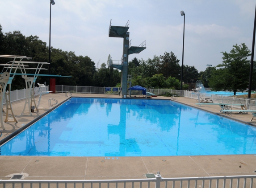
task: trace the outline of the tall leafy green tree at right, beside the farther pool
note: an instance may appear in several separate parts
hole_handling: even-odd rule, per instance
[[[213,72],[210,78],[210,87],[214,90],[227,89],[234,91],[234,95],[238,90],[245,90],[249,82],[250,60],[251,55],[248,47],[242,43],[241,45],[233,45],[230,53],[222,52],[221,67]]]

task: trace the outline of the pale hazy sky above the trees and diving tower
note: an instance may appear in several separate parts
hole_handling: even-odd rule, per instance
[[[252,49],[256,2],[253,0],[55,0],[51,5],[51,46],[88,56],[97,67],[108,56],[121,60],[122,38],[109,37],[109,24],[130,22],[132,46],[146,49],[129,55],[147,60],[173,52],[200,72],[222,63],[222,53],[245,43]],[[3,32],[21,31],[49,45],[50,0],[1,0]],[[13,54],[19,55],[19,54]],[[250,59],[251,57],[249,57]]]

